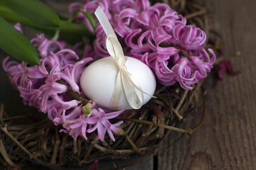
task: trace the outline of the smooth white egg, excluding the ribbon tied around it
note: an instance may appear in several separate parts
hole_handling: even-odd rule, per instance
[[[130,74],[135,77],[140,87],[145,93],[143,94],[143,105],[150,101],[151,96],[155,93],[156,81],[151,69],[133,57],[128,57],[126,68]],[[84,94],[94,100],[99,106],[110,108],[110,101],[113,89],[116,83],[118,67],[113,57],[104,57],[96,62],[91,63],[81,75],[80,85]],[[148,96],[150,94],[150,96]],[[111,108],[113,109],[113,108]],[[119,102],[118,110],[132,109],[126,101],[124,92]]]

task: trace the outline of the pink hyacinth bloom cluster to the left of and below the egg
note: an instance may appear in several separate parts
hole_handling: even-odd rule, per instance
[[[21,30],[19,25],[16,29]],[[79,77],[84,65],[91,57],[79,58],[74,50],[66,49],[64,42],[52,41],[43,34],[31,40],[40,54],[40,65],[28,66],[26,62],[3,62],[9,74],[11,84],[20,91],[23,103],[48,113],[48,118],[55,125],[62,125],[62,132],[71,135],[74,140],[80,135],[87,139],[87,134],[97,132],[98,139],[104,140],[106,132],[114,141],[113,132],[123,121],[111,124],[109,119],[116,118],[123,111],[105,113],[101,108],[92,108],[91,113],[82,111],[83,103],[67,94],[67,91],[82,95],[79,88]],[[85,47],[82,56],[89,56],[90,47]],[[95,103],[93,103],[95,106]]]

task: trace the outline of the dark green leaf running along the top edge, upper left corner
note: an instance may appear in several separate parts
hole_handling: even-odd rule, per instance
[[[60,18],[55,11],[38,0],[1,0],[1,4],[40,26],[60,26]]]

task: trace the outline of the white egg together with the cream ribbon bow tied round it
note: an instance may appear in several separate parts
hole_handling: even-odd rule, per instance
[[[108,36],[106,49],[110,57],[96,60],[84,69],[80,77],[82,91],[104,108],[139,109],[155,93],[155,76],[140,60],[123,55],[121,44],[100,6],[95,14]]]

